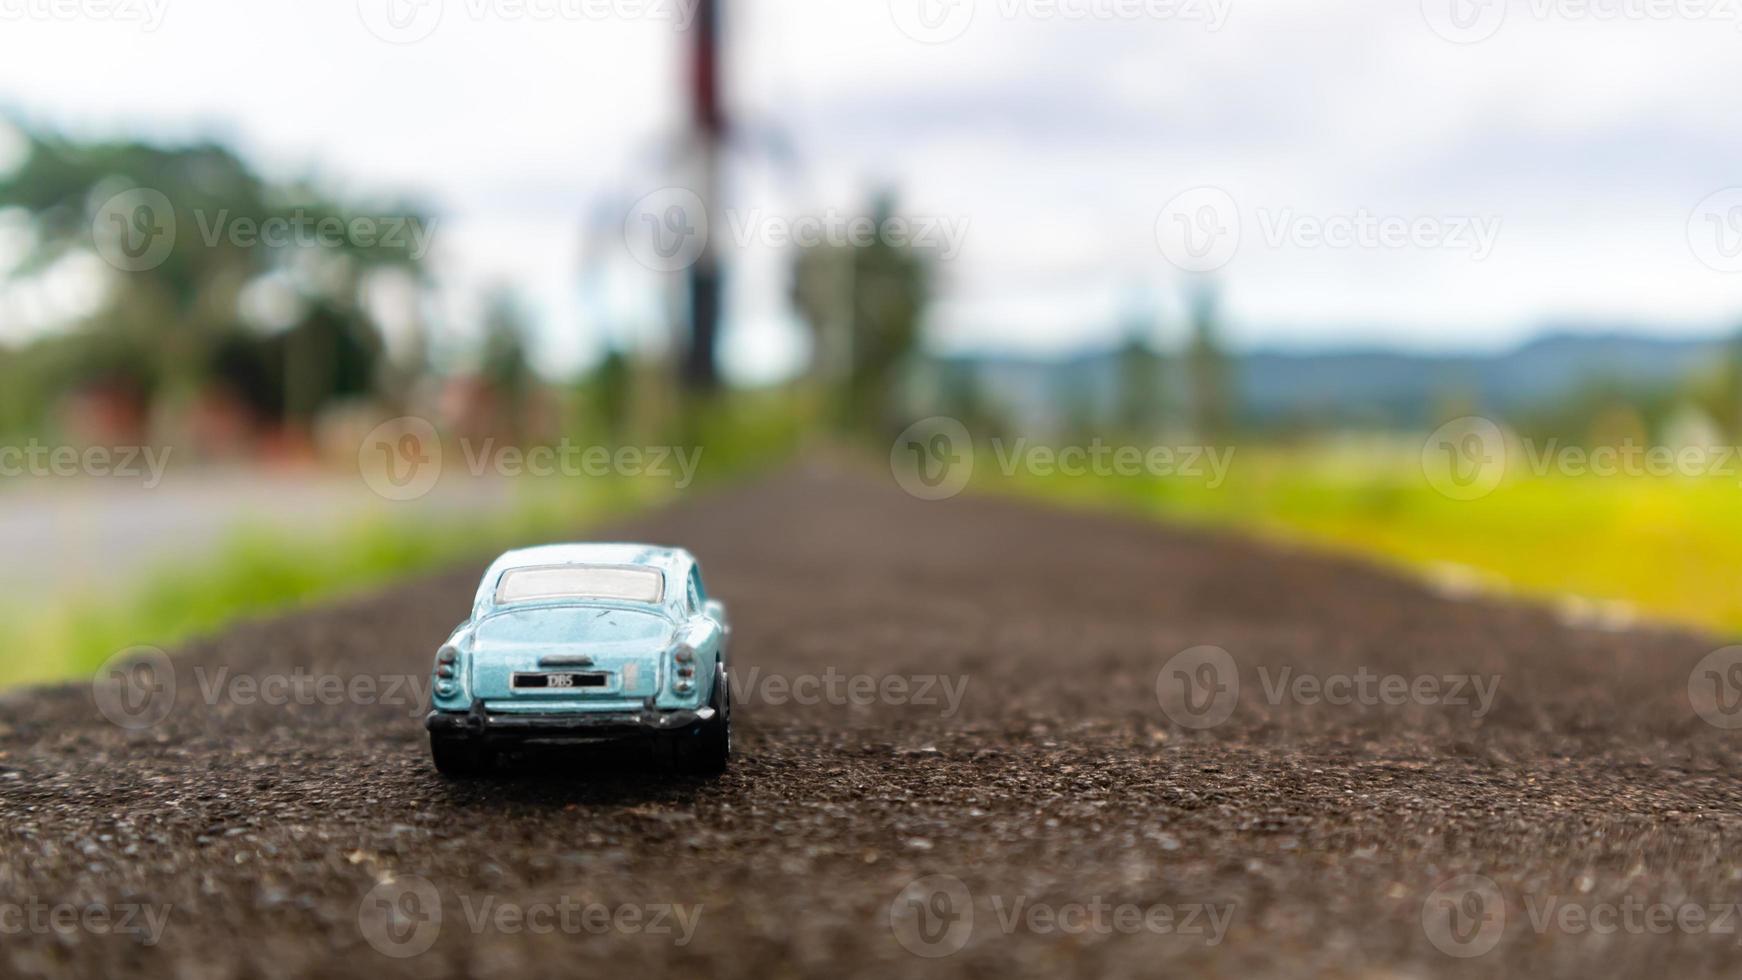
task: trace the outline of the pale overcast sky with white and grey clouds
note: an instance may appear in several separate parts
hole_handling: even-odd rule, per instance
[[[416,191],[446,322],[512,282],[547,364],[643,336],[665,277],[624,219],[678,179],[686,0],[420,2],[0,0],[0,106]],[[955,230],[949,350],[1099,345],[1136,308],[1178,336],[1185,268],[1242,345],[1742,320],[1723,0],[726,3],[739,378],[805,346],[782,249],[735,238],[885,185]]]

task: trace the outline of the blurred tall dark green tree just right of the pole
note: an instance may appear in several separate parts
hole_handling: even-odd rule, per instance
[[[895,200],[873,200],[878,228]],[[899,371],[913,353],[930,298],[932,266],[909,244],[807,244],[793,263],[793,301],[815,334],[815,371],[838,395],[838,423],[868,430],[894,420]]]

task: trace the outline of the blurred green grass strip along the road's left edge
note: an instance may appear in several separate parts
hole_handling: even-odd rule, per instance
[[[808,430],[808,406],[780,395],[719,399],[674,420],[674,439],[700,446],[697,487],[789,458]],[[244,526],[213,554],[167,562],[115,595],[66,595],[0,607],[12,625],[0,688],[89,675],[117,651],[174,646],[226,623],[277,614],[395,580],[535,543],[573,540],[613,517],[657,507],[679,491],[634,477],[523,477],[512,505],[476,519],[364,517],[324,534]],[[455,623],[465,609],[455,609]]]

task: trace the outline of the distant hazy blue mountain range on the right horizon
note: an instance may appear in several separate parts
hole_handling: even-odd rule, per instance
[[[1732,357],[1733,338],[1660,339],[1637,334],[1543,336],[1496,353],[1434,355],[1374,348],[1230,353],[1242,418],[1275,423],[1416,425],[1444,399],[1510,413],[1552,404],[1594,381],[1627,386],[1678,383]],[[1073,413],[1110,413],[1120,353],[1063,360],[946,357],[939,383],[974,379],[979,397],[1024,425],[1054,426]],[[1176,406],[1186,392],[1176,355],[1162,355],[1157,385]],[[946,381],[948,379],[948,381]]]

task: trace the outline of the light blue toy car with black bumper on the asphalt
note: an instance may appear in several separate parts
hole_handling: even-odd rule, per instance
[[[719,773],[732,755],[730,634],[685,550],[509,552],[436,654],[436,768],[470,776],[500,748],[653,738],[679,769]]]

